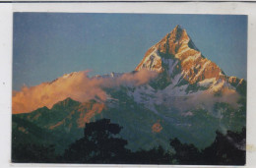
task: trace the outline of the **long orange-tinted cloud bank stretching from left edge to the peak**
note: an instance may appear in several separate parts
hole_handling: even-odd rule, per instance
[[[89,71],[64,75],[52,83],[35,86],[24,86],[21,91],[13,91],[13,113],[31,112],[39,107],[51,108],[58,101],[67,97],[86,102],[95,97],[106,100],[104,87],[120,85],[146,84],[157,77],[156,72],[142,70],[136,73],[123,74],[116,78],[89,78]]]

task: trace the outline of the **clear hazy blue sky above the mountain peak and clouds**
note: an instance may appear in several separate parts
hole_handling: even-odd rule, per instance
[[[226,75],[246,79],[246,16],[14,13],[13,89],[75,71],[133,71],[176,25]]]

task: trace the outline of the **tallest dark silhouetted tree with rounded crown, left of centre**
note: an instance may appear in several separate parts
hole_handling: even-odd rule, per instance
[[[87,123],[85,137],[65,150],[64,160],[70,163],[123,163],[128,150],[127,140],[117,137],[121,131],[109,119]]]

